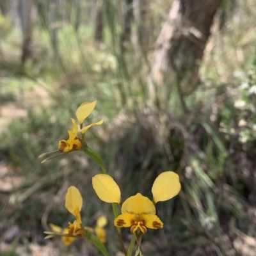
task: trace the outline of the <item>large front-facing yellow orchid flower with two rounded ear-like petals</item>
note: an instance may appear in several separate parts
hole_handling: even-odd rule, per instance
[[[98,174],[92,179],[93,189],[99,198],[108,203],[120,203],[120,189],[109,175]],[[174,172],[163,172],[152,186],[153,200],[137,193],[122,204],[122,214],[114,220],[116,227],[131,227],[133,234],[138,228],[143,234],[147,228],[163,228],[163,222],[156,215],[156,204],[171,199],[180,191],[179,175]]]

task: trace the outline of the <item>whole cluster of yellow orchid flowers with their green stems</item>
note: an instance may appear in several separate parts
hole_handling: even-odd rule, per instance
[[[97,196],[99,196],[100,200],[113,204],[113,211],[115,214],[113,224],[117,227],[118,236],[120,238],[124,254],[131,255],[131,250],[128,250],[129,252],[126,254],[119,228],[131,227],[131,233],[135,235],[139,248],[137,249],[137,255],[143,255],[140,249],[140,243],[141,237],[147,232],[147,228],[163,228],[163,222],[156,215],[155,205],[157,202],[169,200],[179,193],[179,175],[170,171],[161,173],[156,178],[152,186],[152,200],[141,195],[140,193],[137,193],[136,195],[127,198],[123,203],[121,200],[120,188],[116,184],[115,180],[113,180],[113,178],[107,174],[106,168],[104,167],[103,161],[99,154],[84,143],[85,132],[93,125],[101,125],[103,123],[103,120],[100,120],[99,122],[83,127],[85,118],[92,113],[95,105],[96,101],[84,102],[81,104],[81,106],[79,106],[79,108],[77,108],[76,117],[79,124],[77,125],[76,120],[71,118],[72,128],[68,130],[69,138],[68,140],[59,141],[58,150],[54,152],[68,153],[74,150],[83,150],[88,156],[92,157],[95,159],[95,161],[97,161],[97,163],[100,164],[103,174],[97,174],[92,178],[93,189],[95,190]],[[80,138],[77,135],[78,133],[81,134]],[[40,157],[47,156],[48,154],[52,153],[53,152],[44,153]],[[57,156],[59,155],[60,154]],[[42,163],[51,158],[52,157],[48,157],[42,161]],[[121,207],[121,214],[119,215],[116,210],[116,204],[119,204]],[[108,255],[105,248],[103,248],[98,242],[106,242],[106,231],[104,230],[104,227],[108,223],[106,216],[100,216],[100,218],[97,220],[95,228],[83,226],[80,214],[82,205],[83,198],[81,193],[76,187],[70,186],[65,198],[65,207],[71,214],[75,216],[76,220],[74,220],[73,223],[68,223],[67,228],[61,228],[54,224],[50,224],[53,232],[45,233],[50,235],[48,237],[52,237],[58,233],[66,246],[69,246],[76,237],[84,237],[95,244],[95,246],[97,246],[104,255]],[[92,234],[95,234],[98,240],[95,240]]]

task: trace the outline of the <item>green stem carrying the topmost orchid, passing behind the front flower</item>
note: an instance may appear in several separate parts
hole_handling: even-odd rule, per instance
[[[92,159],[94,159],[99,164],[99,166],[100,166],[100,168],[102,170],[102,173],[108,174],[107,171],[106,171],[105,164],[104,164],[104,162],[103,162],[103,160],[100,157],[98,152],[96,152],[93,148],[88,147],[87,145],[84,145],[83,150],[84,150],[84,153],[87,156],[92,157]],[[116,203],[112,204],[112,209],[113,209],[114,216],[116,218],[118,216],[118,211],[117,211]],[[121,235],[121,228],[116,227],[116,229],[117,229],[117,232],[118,232],[118,239],[119,239],[120,245],[122,247],[123,252],[126,255],[126,250],[125,250],[124,243],[123,243],[123,240],[122,240],[122,235]]]

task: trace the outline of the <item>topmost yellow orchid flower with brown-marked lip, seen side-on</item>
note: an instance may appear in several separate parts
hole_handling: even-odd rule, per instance
[[[59,141],[58,150],[62,152],[68,152],[70,150],[77,150],[82,149],[83,145],[81,140],[77,137],[77,132],[81,132],[81,134],[84,134],[90,127],[94,125],[101,125],[103,124],[103,120],[100,120],[99,122],[87,125],[86,127],[83,127],[84,119],[92,113],[93,109],[95,108],[97,103],[97,100],[93,102],[84,102],[77,108],[76,111],[76,117],[79,122],[79,127],[76,124],[76,120],[71,118],[72,122],[72,128],[71,130],[68,130],[69,138],[68,140],[61,140]],[[79,130],[80,128],[80,130]]]

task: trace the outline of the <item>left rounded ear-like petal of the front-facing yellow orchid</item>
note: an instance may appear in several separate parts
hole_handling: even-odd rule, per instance
[[[100,200],[120,203],[121,192],[115,180],[107,174],[97,174],[92,178],[92,186]]]

